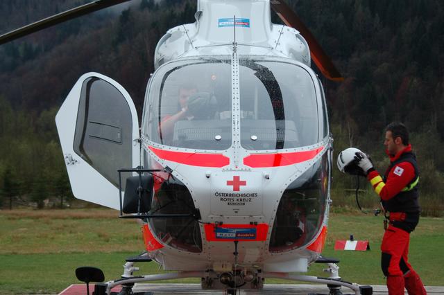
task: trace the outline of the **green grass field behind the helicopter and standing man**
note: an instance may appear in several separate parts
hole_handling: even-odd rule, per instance
[[[144,250],[140,226],[105,209],[0,211],[0,294],[58,293],[78,283],[74,269],[100,267],[105,279],[119,278],[124,259]],[[342,212],[330,216],[323,255],[339,258],[341,276],[360,284],[384,284],[379,268],[382,217]],[[334,241],[368,240],[370,251],[334,251]],[[411,234],[411,264],[425,285],[443,285],[444,219],[422,217]],[[137,274],[157,273],[154,262]],[[325,276],[323,265],[310,275]],[[198,283],[196,279],[180,280]],[[267,280],[267,283],[289,283]]]

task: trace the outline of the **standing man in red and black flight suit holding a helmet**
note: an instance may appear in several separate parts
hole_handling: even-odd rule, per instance
[[[409,144],[407,127],[402,123],[389,124],[384,145],[390,157],[384,178],[373,168],[366,154],[357,152],[355,159],[375,193],[381,197],[384,211],[389,213],[388,227],[381,244],[381,267],[387,278],[388,294],[404,295],[404,287],[410,295],[427,294],[420,276],[407,259],[410,233],[418,224],[420,215],[419,171]]]

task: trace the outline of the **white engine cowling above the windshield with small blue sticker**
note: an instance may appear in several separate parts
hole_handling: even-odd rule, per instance
[[[233,42],[239,53],[277,55],[311,64],[309,46],[298,30],[271,23],[269,0],[199,0],[195,16],[193,24],[171,28],[160,39],[155,69],[179,57],[226,54],[217,45]]]

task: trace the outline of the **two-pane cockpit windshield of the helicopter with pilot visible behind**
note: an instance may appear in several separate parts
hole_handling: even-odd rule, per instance
[[[164,64],[153,77],[148,124],[153,142],[199,150],[232,144],[232,69],[229,56]],[[241,145],[281,150],[317,143],[314,80],[290,62],[239,59]],[[237,108],[239,111],[239,108]]]

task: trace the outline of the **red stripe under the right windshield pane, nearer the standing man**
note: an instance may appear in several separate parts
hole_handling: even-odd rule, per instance
[[[324,147],[318,147],[314,150],[307,150],[303,152],[250,154],[250,156],[244,158],[244,165],[251,168],[289,166],[311,160],[316,157],[316,155],[319,154],[323,149]]]

